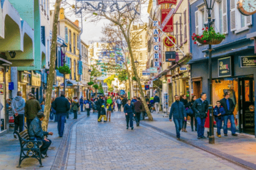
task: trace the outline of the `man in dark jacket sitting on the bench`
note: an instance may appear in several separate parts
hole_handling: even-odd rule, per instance
[[[50,147],[52,141],[50,139],[44,138],[45,135],[52,135],[52,132],[44,132],[41,126],[41,121],[44,120],[44,113],[37,113],[34,120],[30,123],[28,128],[29,140],[38,140],[43,142],[43,146],[40,148],[41,157],[45,158],[46,152]]]

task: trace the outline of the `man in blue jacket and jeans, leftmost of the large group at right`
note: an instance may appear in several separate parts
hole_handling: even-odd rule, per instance
[[[172,121],[172,115],[173,115],[173,122],[175,124],[176,128],[176,134],[177,134],[177,140],[180,140],[180,130],[182,129],[183,121],[187,121],[187,114],[185,111],[184,104],[179,101],[179,96],[175,95],[175,102],[171,106],[170,111],[170,121]]]

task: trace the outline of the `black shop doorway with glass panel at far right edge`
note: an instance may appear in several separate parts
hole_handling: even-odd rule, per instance
[[[242,78],[241,87],[241,129],[243,133],[255,134],[254,122],[254,80],[253,78]]]

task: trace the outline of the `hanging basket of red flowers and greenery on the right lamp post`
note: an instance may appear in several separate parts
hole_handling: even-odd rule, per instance
[[[202,35],[196,35],[193,33],[192,40],[194,40],[194,44],[196,44],[196,41],[200,44],[210,44],[210,45],[217,45],[220,44],[221,41],[225,39],[225,34],[221,34],[219,32],[215,32],[215,30],[210,27],[203,28],[203,34]]]

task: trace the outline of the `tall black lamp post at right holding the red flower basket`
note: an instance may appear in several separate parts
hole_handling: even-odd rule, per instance
[[[207,27],[210,28],[212,25],[211,12],[214,6],[215,0],[204,0],[204,4],[208,11],[208,23]],[[212,45],[209,44],[209,81],[210,81],[210,95],[209,95],[209,117],[210,117],[210,134],[209,143],[214,143],[214,132],[213,132],[213,106],[212,106]]]

